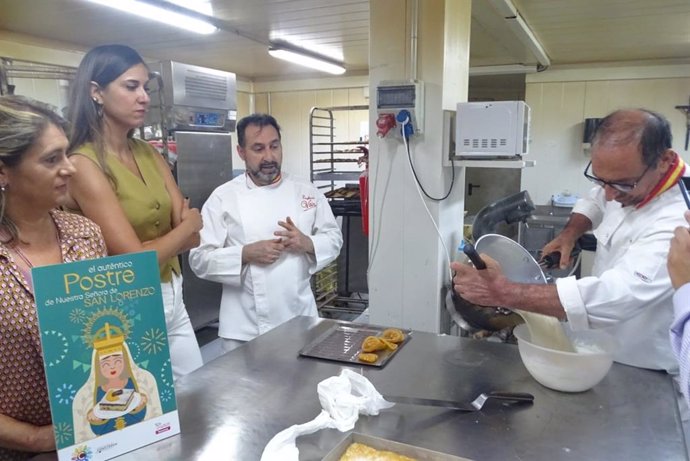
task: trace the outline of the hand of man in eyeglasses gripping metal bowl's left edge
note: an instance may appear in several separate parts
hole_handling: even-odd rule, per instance
[[[455,272],[453,289],[466,301],[480,306],[510,307],[504,301],[508,279],[503,275],[501,266],[495,259],[482,254],[486,269],[477,270],[474,267],[453,262],[450,268]]]

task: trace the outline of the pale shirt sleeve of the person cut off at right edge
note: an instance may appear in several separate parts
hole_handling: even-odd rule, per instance
[[[673,295],[674,320],[671,325],[671,347],[680,366],[680,389],[690,403],[690,283],[680,287]],[[688,329],[685,329],[686,325]]]

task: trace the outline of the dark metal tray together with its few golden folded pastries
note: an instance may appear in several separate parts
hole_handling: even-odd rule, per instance
[[[299,355],[382,367],[411,337],[411,330],[360,323],[337,324],[304,346]]]

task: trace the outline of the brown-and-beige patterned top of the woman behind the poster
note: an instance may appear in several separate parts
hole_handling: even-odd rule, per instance
[[[107,255],[100,228],[89,219],[52,211],[63,262]],[[51,423],[36,305],[31,285],[0,243],[0,413],[42,426]],[[0,460],[32,453],[0,447]]]

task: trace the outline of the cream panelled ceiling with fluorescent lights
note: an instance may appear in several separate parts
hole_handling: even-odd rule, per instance
[[[502,1],[473,0],[471,66],[536,63],[492,6]],[[690,0],[512,3],[552,66],[690,62]],[[369,0],[212,0],[212,5],[214,17],[222,22],[222,30],[213,35],[186,32],[85,0],[0,0],[0,30],[77,50],[124,43],[149,59],[228,70],[256,81],[308,75],[304,68],[268,55],[269,40],[282,38],[341,55],[346,75],[368,72]]]

